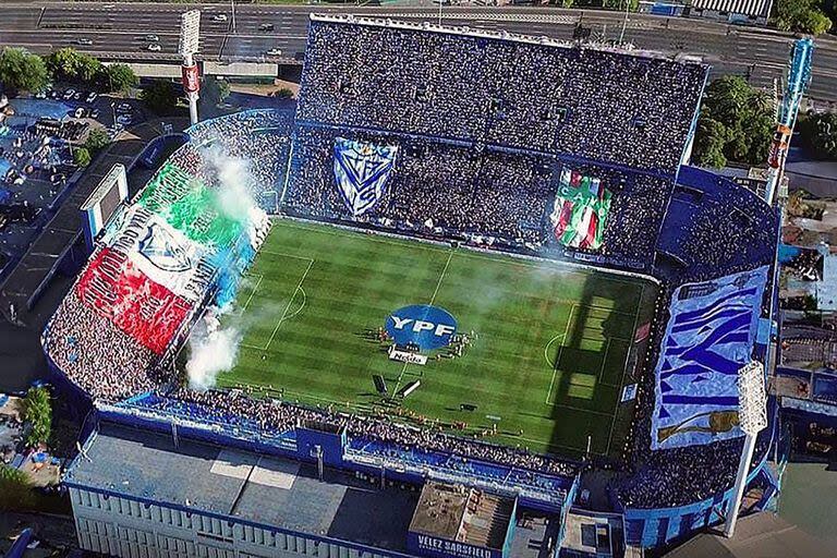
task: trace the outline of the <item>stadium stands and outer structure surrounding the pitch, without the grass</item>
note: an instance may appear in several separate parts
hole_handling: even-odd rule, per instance
[[[64,482],[82,547],[555,556],[580,538],[565,536],[568,515],[595,508],[594,524],[620,525],[607,531],[619,554],[720,521],[742,445],[738,369],[775,365],[778,213],[686,165],[707,73],[536,37],[312,17],[295,114],[193,126],[107,223],[44,332],[56,381],[95,408]],[[263,210],[230,210],[229,157],[252,161]],[[265,211],[657,284],[618,403],[631,423],[619,458],[405,446],[376,434],[378,420],[179,386],[178,353],[207,306],[234,299]],[[773,402],[769,417],[755,508],[777,489]]]

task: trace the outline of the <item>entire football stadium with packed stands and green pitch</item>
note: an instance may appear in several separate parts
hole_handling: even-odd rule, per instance
[[[618,518],[611,549],[658,548],[716,524],[743,444],[739,369],[771,366],[779,215],[688,163],[707,75],[313,16],[295,112],[192,126],[46,328],[57,379],[96,410],[84,456],[173,437],[421,490],[378,538],[248,515],[253,488],[180,499],[220,522],[218,544],[241,523],[302,545],[281,556],[553,556],[596,514]],[[774,417],[754,509],[776,492]],[[201,473],[165,462],[129,488],[80,458],[65,485],[74,508],[96,493],[169,509],[166,486]],[[471,538],[439,525],[462,509],[490,509]],[[119,536],[83,546],[131,555],[102,542]]]

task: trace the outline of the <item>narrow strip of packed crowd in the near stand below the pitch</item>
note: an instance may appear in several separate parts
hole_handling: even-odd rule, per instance
[[[452,436],[439,427],[414,428],[395,424],[384,417],[349,415],[329,412],[326,409],[310,409],[269,399],[255,399],[241,391],[195,391],[180,388],[168,398],[158,398],[157,407],[169,410],[182,402],[203,407],[216,416],[230,416],[230,424],[242,425],[252,421],[260,430],[281,433],[302,425],[305,421],[327,423],[345,427],[354,437],[366,437],[389,442],[405,450],[439,451],[453,453],[465,459],[502,463],[510,466],[544,471],[554,474],[572,475],[575,466],[565,461],[532,453],[507,446],[496,446]],[[244,418],[241,418],[244,417]]]

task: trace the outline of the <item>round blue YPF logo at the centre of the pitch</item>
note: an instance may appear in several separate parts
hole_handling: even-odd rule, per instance
[[[397,344],[415,344],[422,351],[450,344],[457,320],[445,308],[414,304],[399,308],[387,318],[387,333]]]

